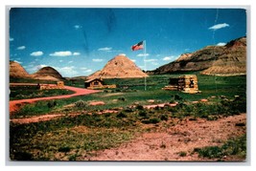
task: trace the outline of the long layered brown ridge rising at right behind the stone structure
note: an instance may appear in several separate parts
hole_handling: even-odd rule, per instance
[[[228,42],[225,46],[207,46],[195,53],[184,53],[175,61],[163,65],[150,75],[201,71],[202,75],[245,75],[246,37]]]

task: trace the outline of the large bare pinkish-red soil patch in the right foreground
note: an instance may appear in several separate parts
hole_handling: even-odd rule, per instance
[[[145,133],[118,148],[98,151],[94,157],[81,160],[208,160],[193,154],[194,148],[220,146],[227,139],[243,135],[245,126],[236,126],[241,122],[246,123],[245,114],[214,121],[185,119],[164,131]],[[181,157],[180,152],[186,156]]]

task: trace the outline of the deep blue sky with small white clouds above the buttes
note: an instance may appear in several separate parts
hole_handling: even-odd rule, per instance
[[[243,9],[12,8],[10,60],[29,74],[51,66],[91,75],[118,54],[151,71],[209,45],[246,36]],[[146,48],[131,46],[146,41]],[[146,64],[146,65],[145,65]],[[146,66],[146,68],[145,68]]]

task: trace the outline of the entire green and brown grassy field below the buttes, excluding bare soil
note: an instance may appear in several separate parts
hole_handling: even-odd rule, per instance
[[[118,87],[88,96],[25,105],[11,118],[59,114],[61,117],[27,124],[11,121],[11,160],[94,160],[103,150],[122,148],[145,134],[168,133],[176,126],[193,125],[200,120],[213,124],[246,113],[245,75],[198,75],[201,94],[196,95],[161,90],[168,85],[170,77],[177,75],[149,76],[147,91],[144,90],[143,78],[105,79],[105,84]],[[82,87],[83,81],[66,81],[65,85]],[[201,102],[201,99],[207,101]],[[105,105],[90,105],[95,101],[102,101]],[[145,108],[163,103],[167,105]],[[239,134],[215,139],[219,141],[218,145],[180,150],[176,154],[178,159],[168,160],[185,160],[193,155],[197,155],[198,160],[245,160],[245,124],[244,121],[234,123]],[[159,149],[169,148],[170,144],[159,142]],[[118,150],[115,153],[120,155]]]

